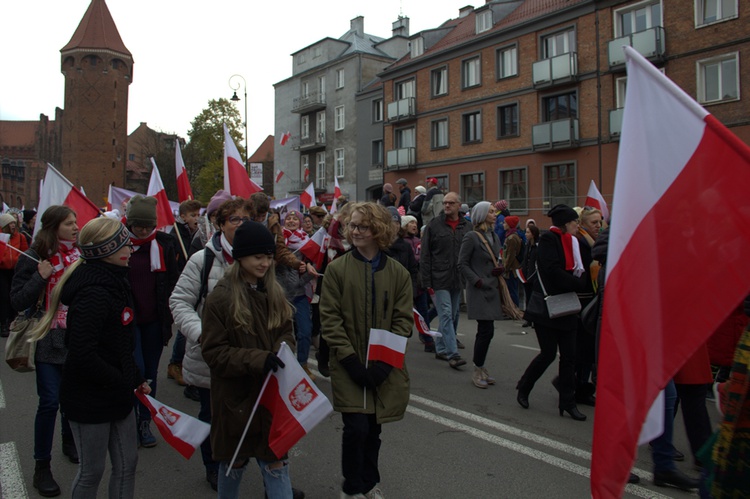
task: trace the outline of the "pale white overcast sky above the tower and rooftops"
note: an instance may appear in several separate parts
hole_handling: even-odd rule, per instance
[[[40,113],[54,118],[55,107],[63,107],[60,49],[89,3],[0,0],[0,119],[37,120]],[[229,78],[239,73],[248,86],[252,153],[274,133],[273,84],[291,76],[291,53],[324,37],[340,37],[359,15],[366,33],[387,38],[399,13],[410,18],[414,34],[457,17],[463,5],[434,0],[107,0],[135,60],[128,132],[145,121],[155,130],[187,138],[190,121],[210,99],[232,96]]]

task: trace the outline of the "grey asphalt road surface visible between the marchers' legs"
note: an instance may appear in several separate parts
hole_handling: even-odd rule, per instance
[[[580,408],[589,416],[586,422],[558,415],[556,392],[550,384],[556,366],[545,373],[532,392],[529,410],[516,403],[516,381],[538,352],[533,330],[524,330],[518,322],[496,323],[486,367],[498,382],[485,390],[474,387],[471,349],[475,328],[476,323],[462,314],[459,339],[467,346],[461,352],[468,363],[461,371],[424,353],[416,337],[409,340],[411,401],[402,421],[383,426],[383,493],[389,498],[590,497],[593,408]],[[158,398],[197,415],[198,403],[185,398],[182,388],[166,379],[170,353],[171,345],[162,355]],[[330,397],[328,381],[318,380]],[[35,376],[15,373],[3,362],[0,383],[1,497],[39,497],[32,487]],[[716,421],[712,405],[709,412]],[[153,425],[152,428],[158,445],[139,450],[136,497],[215,497],[205,481],[200,453],[185,460],[163,441]],[[341,418],[333,413],[290,452],[292,482],[310,499],[339,497],[341,430]],[[679,416],[675,445],[689,453]],[[686,473],[697,475],[689,458],[677,465]],[[52,467],[63,497],[69,496],[77,465],[62,455],[59,431]],[[654,486],[650,471],[650,453],[648,447],[642,447],[635,463],[641,484],[629,485],[625,497],[697,496]],[[106,495],[107,479],[105,475],[99,487],[100,497]],[[243,478],[243,497],[263,497],[260,472],[254,465]]]

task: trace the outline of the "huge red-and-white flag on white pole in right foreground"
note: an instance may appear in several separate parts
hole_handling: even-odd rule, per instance
[[[625,47],[625,53],[594,498],[622,496],[652,402],[750,291],[750,148],[638,52]],[[697,213],[721,237],[706,237]],[[696,268],[705,255],[731,272]]]

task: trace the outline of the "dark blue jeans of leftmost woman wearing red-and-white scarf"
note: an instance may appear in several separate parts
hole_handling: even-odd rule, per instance
[[[60,381],[62,364],[36,363],[36,393],[39,405],[34,419],[34,459],[43,461],[52,458],[52,441],[55,437],[55,422],[60,407]],[[70,436],[70,424],[60,415],[63,436]]]

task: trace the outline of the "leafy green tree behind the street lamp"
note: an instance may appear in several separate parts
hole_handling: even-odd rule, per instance
[[[203,203],[224,186],[224,123],[245,157],[240,112],[223,98],[208,101],[208,107],[190,123],[190,142],[182,152],[195,197]]]

